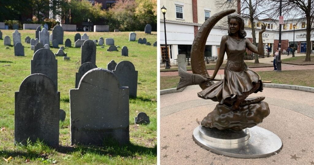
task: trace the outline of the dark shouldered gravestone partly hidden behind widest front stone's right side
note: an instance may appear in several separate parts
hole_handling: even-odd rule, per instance
[[[136,97],[138,71],[130,61],[121,61],[117,64],[115,70],[112,71],[119,80],[122,87],[129,87],[129,96]]]

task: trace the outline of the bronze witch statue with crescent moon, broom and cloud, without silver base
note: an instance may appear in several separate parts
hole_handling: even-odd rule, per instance
[[[244,20],[241,15],[234,12],[234,9],[224,10],[204,22],[194,38],[191,49],[193,74],[179,70],[181,78],[177,89],[199,84],[203,91],[198,93],[198,97],[219,102],[216,108],[203,119],[202,126],[240,131],[261,123],[269,114],[268,104],[262,101],[265,97],[247,99],[251,93],[262,92],[263,83],[261,77],[244,63],[246,48],[256,54],[263,54],[262,34],[266,25],[262,24],[259,31],[257,48],[245,38]],[[224,35],[221,39],[215,71],[212,76],[209,76],[203,60],[206,40],[214,25],[229,14],[231,15],[228,35]],[[225,52],[228,59],[225,77],[214,83],[213,81],[216,80],[214,77],[223,63]]]

